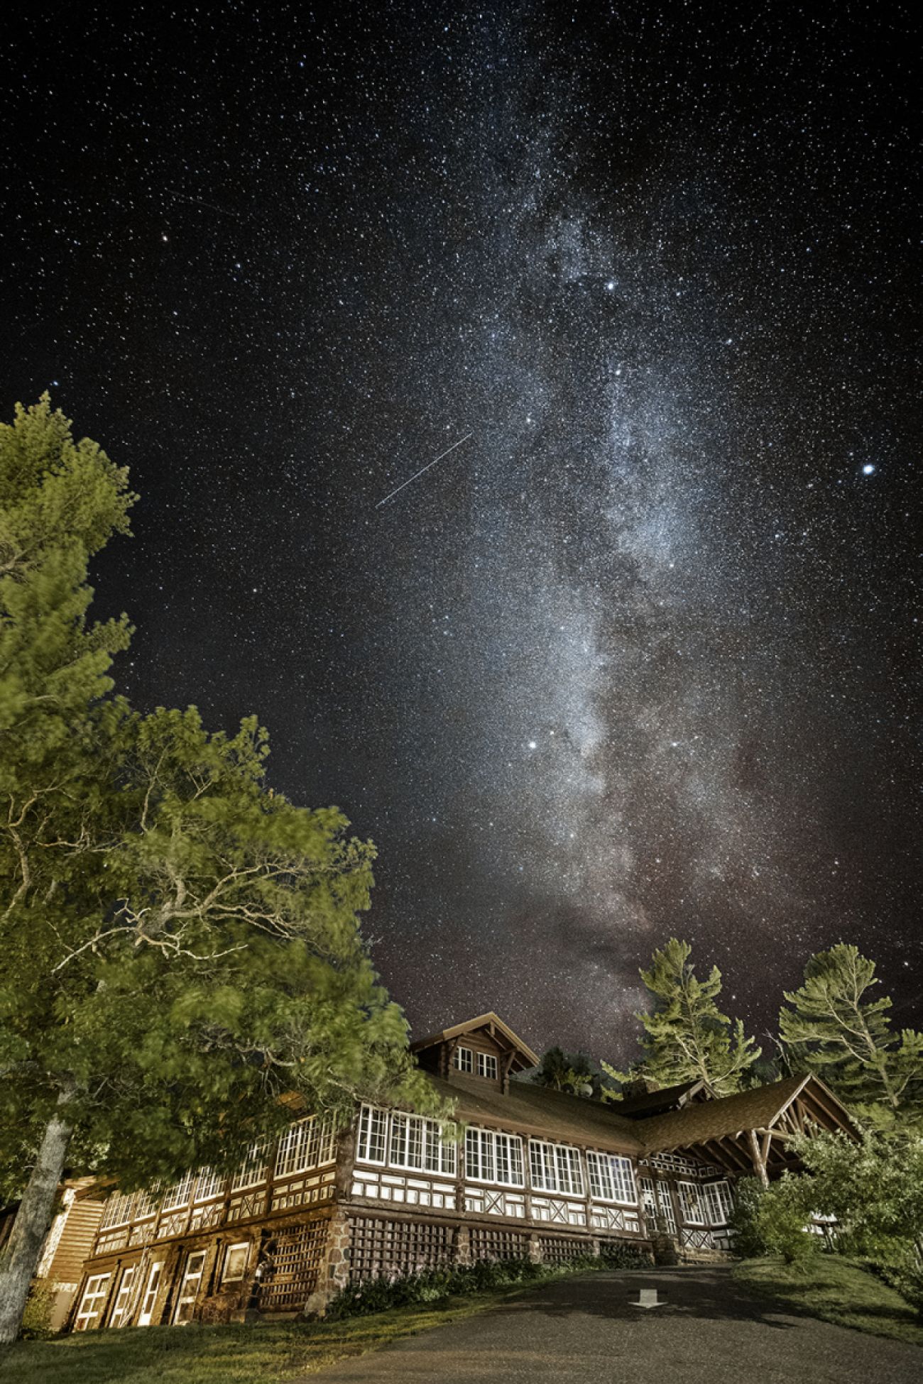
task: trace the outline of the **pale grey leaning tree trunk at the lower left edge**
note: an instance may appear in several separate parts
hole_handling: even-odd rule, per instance
[[[58,1104],[65,1099],[61,1095]],[[0,1345],[15,1341],[19,1334],[42,1241],[51,1223],[54,1199],[72,1132],[73,1127],[57,1114],[48,1121],[12,1223],[12,1233],[0,1254]]]

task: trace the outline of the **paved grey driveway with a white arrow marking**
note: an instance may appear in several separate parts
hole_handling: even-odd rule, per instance
[[[656,1287],[666,1306],[630,1306]],[[923,1351],[789,1315],[729,1271],[566,1279],[519,1302],[342,1360],[350,1384],[922,1384]]]

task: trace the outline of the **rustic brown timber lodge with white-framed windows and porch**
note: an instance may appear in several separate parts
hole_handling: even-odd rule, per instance
[[[97,1200],[68,1324],[322,1313],[342,1287],[382,1273],[555,1264],[613,1243],[660,1262],[717,1257],[731,1244],[735,1178],[794,1167],[789,1138],[810,1124],[855,1135],[814,1077],[724,1099],[686,1082],[614,1104],[516,1080],[538,1057],[494,1013],[411,1048],[455,1103],[461,1143],[412,1110],[364,1104],[339,1135],[317,1117],[295,1121],[230,1178],[205,1168],[156,1196]]]

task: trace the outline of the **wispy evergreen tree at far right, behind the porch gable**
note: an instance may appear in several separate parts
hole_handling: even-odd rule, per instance
[[[873,1127],[923,1121],[923,1034],[895,1034],[891,1001],[872,995],[875,962],[840,943],[816,952],[786,991],[779,1034],[793,1067],[816,1073]]]

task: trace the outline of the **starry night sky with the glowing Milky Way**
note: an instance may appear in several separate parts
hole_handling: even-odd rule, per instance
[[[756,1031],[837,940],[919,1017],[919,51],[850,0],[7,32],[3,417],[131,468],[120,688],[257,711],[375,840],[418,1034],[623,1060],[674,933]]]

